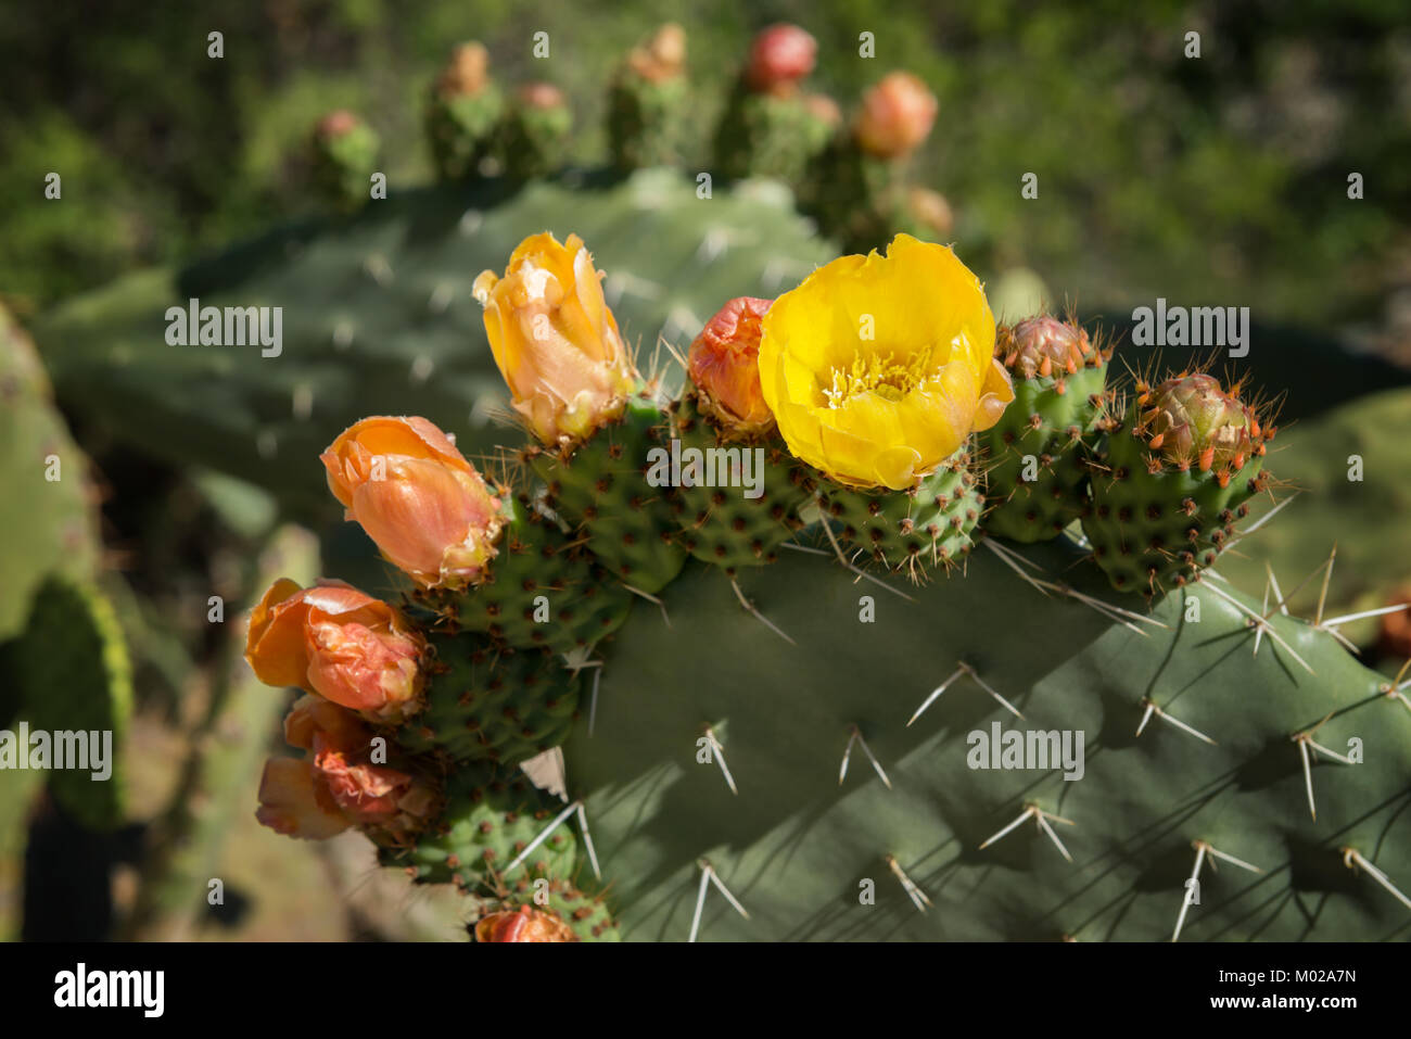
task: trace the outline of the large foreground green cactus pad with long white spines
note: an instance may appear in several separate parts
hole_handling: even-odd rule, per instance
[[[1113,600],[1062,545],[1022,551],[1050,579]],[[1167,627],[1136,634],[1046,597],[989,552],[971,558],[965,580],[909,589],[914,601],[878,596],[866,624],[852,575],[789,553],[739,576],[797,639],[785,647],[713,577],[693,563],[663,596],[670,630],[629,625],[614,641],[594,734],[580,728],[564,747],[625,937],[683,940],[706,858],[749,919],[711,885],[703,940],[1164,942],[1195,840],[1263,872],[1206,865],[1181,940],[1404,936],[1405,908],[1346,868],[1342,848],[1411,885],[1411,717],[1332,635],[1276,614],[1276,632],[1316,676],[1267,634],[1256,656],[1247,615],[1204,586],[1156,607]],[[1163,716],[1136,735],[1147,697]],[[1342,754],[1362,740],[1363,764],[1312,765],[1314,820],[1290,737],[1329,711],[1314,738]],[[738,793],[701,759],[707,724]],[[852,747],[840,783],[854,726],[866,747]],[[995,726],[1084,733],[1082,778],[974,768],[974,734]],[[1072,822],[1050,823],[1072,861],[1033,817],[981,848],[1030,803]],[[926,912],[888,855],[931,901]]]

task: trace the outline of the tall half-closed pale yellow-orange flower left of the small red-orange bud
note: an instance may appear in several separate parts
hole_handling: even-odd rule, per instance
[[[533,234],[505,277],[484,271],[476,299],[518,411],[547,445],[581,440],[622,412],[636,380],[601,275],[577,234]]]

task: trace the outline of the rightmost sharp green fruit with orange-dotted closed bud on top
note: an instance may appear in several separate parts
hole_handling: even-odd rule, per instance
[[[1144,381],[1108,435],[1082,529],[1112,586],[1149,599],[1211,566],[1268,487],[1268,416],[1205,373]]]

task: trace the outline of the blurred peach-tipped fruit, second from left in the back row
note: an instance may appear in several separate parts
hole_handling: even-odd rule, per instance
[[[457,47],[426,102],[426,140],[437,176],[463,181],[480,172],[494,154],[504,109],[485,48],[478,42]]]

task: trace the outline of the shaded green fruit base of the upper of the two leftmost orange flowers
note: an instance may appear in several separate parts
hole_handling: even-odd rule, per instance
[[[569,737],[579,676],[557,656],[505,651],[474,635],[433,635],[426,710],[398,733],[416,754],[518,765]]]

